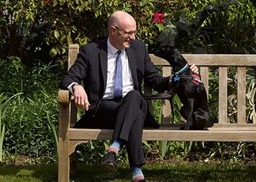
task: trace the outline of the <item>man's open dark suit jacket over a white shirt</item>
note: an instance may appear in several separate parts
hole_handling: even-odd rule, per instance
[[[104,39],[80,47],[77,60],[75,60],[74,65],[69,69],[68,74],[64,76],[60,84],[61,89],[67,90],[72,82],[80,84],[83,81],[91,104],[89,113],[95,111],[106,89],[108,71],[107,40]],[[165,92],[170,78],[159,76],[143,41],[132,41],[126,51],[135,90],[142,93],[141,84],[144,79],[144,82],[150,84],[154,90]]]

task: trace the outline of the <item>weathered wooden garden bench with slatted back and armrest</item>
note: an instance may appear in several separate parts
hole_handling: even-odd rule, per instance
[[[78,54],[77,44],[69,45],[68,68]],[[163,76],[170,75],[167,61],[150,55],[156,66],[163,67]],[[208,67],[219,68],[219,117],[208,131],[178,130],[180,126],[170,124],[170,103],[163,101],[162,124],[159,129],[143,130],[145,141],[256,141],[256,124],[246,123],[246,66],[256,66],[256,55],[184,55],[189,63],[200,66],[200,74],[208,92]],[[238,70],[237,122],[227,123],[227,69],[236,66]],[[151,89],[145,86],[145,94]],[[67,90],[59,90],[59,182],[69,181],[69,159],[75,147],[89,140],[110,140],[113,130],[75,129],[76,107]]]

